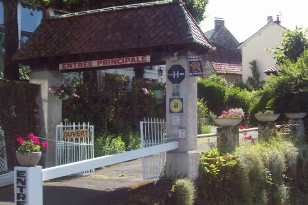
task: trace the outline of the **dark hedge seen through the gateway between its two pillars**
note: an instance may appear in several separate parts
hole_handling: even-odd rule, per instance
[[[144,79],[130,82],[127,76],[109,74],[94,80],[95,83],[73,80],[80,98],[63,101],[62,117],[75,122],[89,121],[94,125],[95,136],[103,132],[138,132],[144,117],[165,118],[165,99],[156,99],[150,90],[145,94],[142,88],[148,89],[152,84]]]

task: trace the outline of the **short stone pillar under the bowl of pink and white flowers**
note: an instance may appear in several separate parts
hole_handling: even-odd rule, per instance
[[[217,148],[234,149],[239,146],[239,128],[238,127],[218,127]]]

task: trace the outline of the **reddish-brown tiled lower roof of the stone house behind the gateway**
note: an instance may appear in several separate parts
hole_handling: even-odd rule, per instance
[[[217,50],[208,52],[206,59],[210,61],[216,73],[242,74],[241,52],[216,44],[215,46]]]

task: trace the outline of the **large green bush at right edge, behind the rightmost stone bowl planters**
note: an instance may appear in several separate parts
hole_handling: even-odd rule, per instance
[[[266,80],[264,92],[270,97],[267,106],[276,113],[308,111],[308,50],[296,63],[286,60],[282,71]]]

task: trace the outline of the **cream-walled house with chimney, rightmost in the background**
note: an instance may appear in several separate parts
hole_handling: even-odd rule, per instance
[[[266,69],[275,66],[276,59],[274,58],[272,53],[266,51],[266,49],[275,48],[275,44],[279,45],[281,43],[283,30],[284,27],[280,25],[279,16],[277,16],[276,20],[273,20],[272,16],[268,16],[267,24],[261,29],[259,29],[252,36],[247,38],[238,47],[238,49],[242,51],[242,68],[244,83],[249,76],[252,76],[251,65],[249,65],[249,62],[256,60],[257,68],[260,73],[260,80],[263,80],[267,76],[267,71],[272,70]]]

